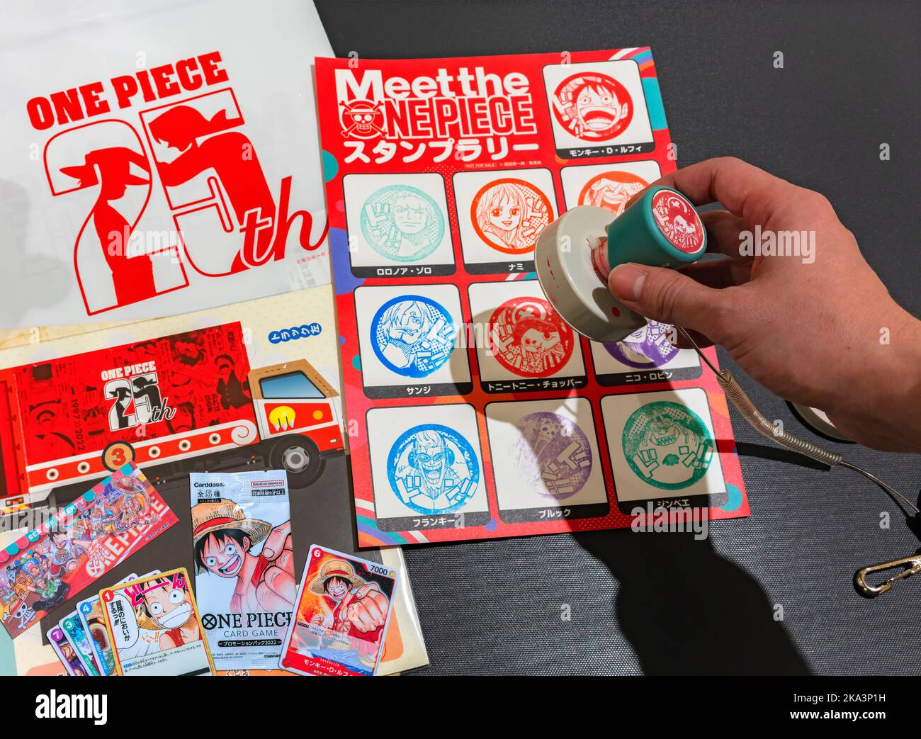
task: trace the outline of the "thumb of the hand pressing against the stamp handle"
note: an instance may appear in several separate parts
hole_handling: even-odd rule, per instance
[[[705,287],[667,267],[630,263],[614,267],[608,287],[616,299],[640,315],[693,329],[720,343],[727,302],[722,290]]]

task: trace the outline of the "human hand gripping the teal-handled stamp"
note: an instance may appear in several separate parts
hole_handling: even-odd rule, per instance
[[[678,271],[621,264],[608,278],[613,295],[701,346],[723,346],[753,380],[821,408],[851,439],[921,452],[921,322],[890,297],[828,200],[736,158],[707,159],[661,184],[725,207],[701,217],[707,251],[726,258]],[[740,255],[756,226],[775,238],[799,232],[807,244],[814,235],[811,256]]]

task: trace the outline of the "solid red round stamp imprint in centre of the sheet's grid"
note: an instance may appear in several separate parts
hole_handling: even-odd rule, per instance
[[[572,357],[572,329],[541,298],[507,300],[495,309],[486,330],[496,360],[521,377],[550,377]]]

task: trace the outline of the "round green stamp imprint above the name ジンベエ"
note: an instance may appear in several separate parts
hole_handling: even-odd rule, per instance
[[[706,474],[714,450],[700,416],[668,401],[637,408],[624,424],[621,444],[636,476],[664,490],[694,485]]]

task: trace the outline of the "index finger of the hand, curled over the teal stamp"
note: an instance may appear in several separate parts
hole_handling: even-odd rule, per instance
[[[699,161],[660,177],[649,187],[659,185],[683,193],[694,205],[719,201],[729,213],[748,223],[762,224],[770,217],[778,198],[794,195],[799,190],[796,185],[735,157]],[[642,194],[635,194],[627,207]]]

